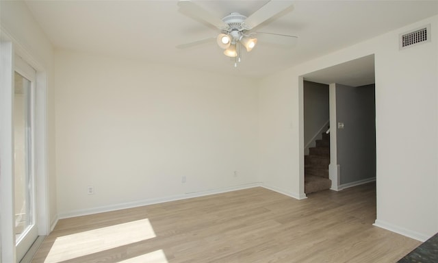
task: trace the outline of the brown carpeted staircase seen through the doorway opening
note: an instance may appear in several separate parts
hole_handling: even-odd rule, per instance
[[[304,192],[318,192],[331,188],[329,179],[330,134],[322,134],[322,140],[316,140],[316,147],[309,148],[304,157]]]

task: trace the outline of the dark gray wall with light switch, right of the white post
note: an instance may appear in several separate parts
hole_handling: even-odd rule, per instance
[[[376,104],[374,84],[336,84],[337,164],[340,184],[376,177]],[[337,128],[337,127],[336,127]]]

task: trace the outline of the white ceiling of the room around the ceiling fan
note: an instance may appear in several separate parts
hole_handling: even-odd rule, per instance
[[[267,2],[193,1],[220,18],[230,12],[249,16]],[[438,1],[293,1],[292,12],[263,23],[256,31],[298,36],[296,47],[284,49],[259,41],[253,51],[242,54],[242,62],[234,68],[215,42],[175,48],[218,34],[217,29],[179,12],[176,0],[26,3],[57,49],[246,77],[263,77],[438,14]],[[356,63],[359,68],[374,72],[374,66],[364,67],[360,62]],[[331,74],[336,73],[336,67],[332,68]],[[370,77],[370,73],[363,75]],[[316,73],[309,78],[321,81]]]

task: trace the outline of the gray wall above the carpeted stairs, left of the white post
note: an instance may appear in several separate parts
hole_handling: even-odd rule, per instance
[[[304,82],[304,144],[329,121],[329,85]]]

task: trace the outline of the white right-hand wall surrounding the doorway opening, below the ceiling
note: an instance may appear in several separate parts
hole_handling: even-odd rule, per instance
[[[431,23],[432,42],[398,50],[398,34]],[[424,240],[438,231],[438,16],[264,79],[260,178],[300,193],[300,76],[375,54],[376,225]],[[300,187],[301,186],[301,187]]]

